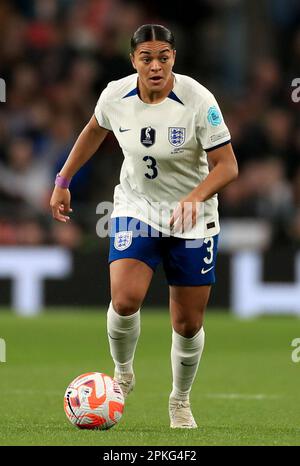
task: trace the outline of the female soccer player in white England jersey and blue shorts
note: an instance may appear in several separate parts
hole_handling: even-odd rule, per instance
[[[133,389],[140,307],[160,261],[173,327],[170,426],[195,428],[189,394],[204,347],[203,315],[215,281],[219,222],[216,193],[234,180],[237,162],[214,96],[173,73],[173,34],[141,26],[131,39],[135,74],[113,81],[56,177],[53,217],[69,221],[69,183],[113,131],[124,153],[114,192],[107,313],[115,378]],[[210,169],[209,164],[210,163]]]

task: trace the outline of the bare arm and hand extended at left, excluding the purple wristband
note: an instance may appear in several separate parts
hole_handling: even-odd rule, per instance
[[[99,126],[93,115],[80,133],[59,174],[71,181],[75,173],[94,155],[108,133],[109,130]],[[69,221],[68,213],[72,212],[70,201],[69,189],[55,186],[50,200],[53,218],[59,222]]]

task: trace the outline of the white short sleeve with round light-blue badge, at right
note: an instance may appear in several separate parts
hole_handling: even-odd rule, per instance
[[[215,97],[210,96],[202,104],[197,120],[197,138],[206,152],[230,142],[230,133]]]

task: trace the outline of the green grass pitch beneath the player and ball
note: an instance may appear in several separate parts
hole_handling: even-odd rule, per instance
[[[167,309],[145,309],[136,352],[137,384],[121,422],[109,431],[81,431],[63,411],[65,388],[88,371],[113,374],[106,312],[48,310],[16,317],[0,310],[1,445],[299,445],[300,363],[291,342],[299,320],[238,320],[210,313],[206,345],[191,401],[195,430],[171,430],[171,330]]]

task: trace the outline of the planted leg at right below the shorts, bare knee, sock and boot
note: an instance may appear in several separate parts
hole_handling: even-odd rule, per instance
[[[170,287],[173,327],[171,427],[197,427],[190,410],[189,395],[204,348],[203,318],[210,288],[210,286]]]

